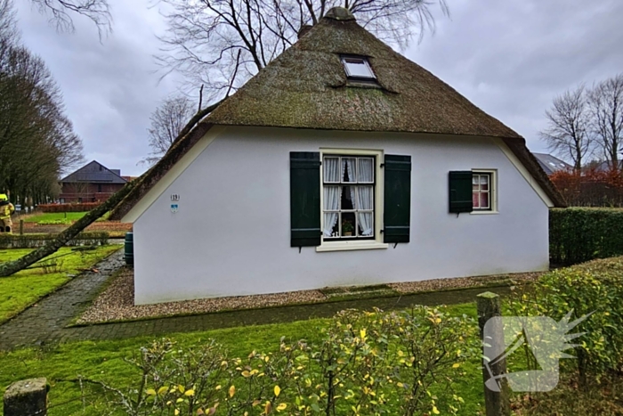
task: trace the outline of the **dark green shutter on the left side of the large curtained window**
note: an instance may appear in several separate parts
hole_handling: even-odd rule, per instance
[[[290,245],[320,246],[320,153],[290,152]]]

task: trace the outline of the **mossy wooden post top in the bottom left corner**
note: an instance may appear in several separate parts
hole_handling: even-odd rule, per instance
[[[25,379],[4,392],[4,416],[47,416],[47,380]]]

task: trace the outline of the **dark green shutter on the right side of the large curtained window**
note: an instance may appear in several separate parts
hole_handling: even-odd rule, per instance
[[[411,157],[385,155],[383,241],[409,242]]]

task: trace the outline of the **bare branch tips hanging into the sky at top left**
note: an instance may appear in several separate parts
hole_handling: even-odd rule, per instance
[[[50,20],[61,31],[73,31],[71,13],[90,19],[100,35],[111,29],[112,15],[108,0],[30,0],[39,12],[50,15]]]

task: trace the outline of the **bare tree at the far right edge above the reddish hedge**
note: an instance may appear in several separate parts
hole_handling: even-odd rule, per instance
[[[619,169],[623,150],[623,74],[597,83],[588,92],[591,131],[611,169]]]

